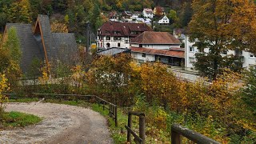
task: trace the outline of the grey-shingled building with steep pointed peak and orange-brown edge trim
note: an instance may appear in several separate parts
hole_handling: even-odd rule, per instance
[[[4,38],[10,28],[17,32],[22,51],[21,69],[29,70],[34,58],[45,61],[47,65],[54,62],[74,64],[77,58],[77,44],[72,33],[52,33],[47,15],[38,15],[34,26],[23,23],[7,23]]]

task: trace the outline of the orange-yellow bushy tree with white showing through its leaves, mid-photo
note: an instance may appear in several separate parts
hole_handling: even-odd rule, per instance
[[[115,57],[101,56],[96,58],[86,73],[86,81],[90,93],[105,95],[122,106],[132,99],[129,94],[130,55],[120,54]]]

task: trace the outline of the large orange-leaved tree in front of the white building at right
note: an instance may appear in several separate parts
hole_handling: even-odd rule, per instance
[[[222,73],[222,54],[228,50],[256,52],[255,6],[250,0],[194,0],[194,15],[190,21],[190,41],[199,50],[209,48],[209,53],[197,54],[195,64],[200,74],[216,79]],[[239,60],[239,55],[237,54]],[[235,60],[235,61],[236,61]],[[234,62],[235,62],[234,61]],[[202,70],[202,67],[206,69]]]

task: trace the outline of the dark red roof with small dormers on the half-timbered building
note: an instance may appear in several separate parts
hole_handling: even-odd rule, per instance
[[[99,29],[98,35],[101,36],[137,36],[138,34],[131,34],[132,31],[144,32],[152,29],[143,23],[128,23],[128,22],[105,22]],[[107,33],[106,33],[107,31]],[[114,34],[118,31],[118,34]]]

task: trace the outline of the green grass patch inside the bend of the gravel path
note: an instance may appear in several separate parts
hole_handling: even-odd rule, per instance
[[[17,127],[28,126],[41,122],[42,118],[39,118],[33,114],[25,114],[21,112],[11,111],[10,113],[3,114],[3,126],[4,127]]]

